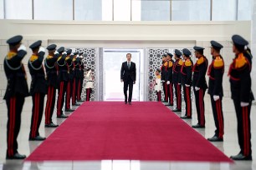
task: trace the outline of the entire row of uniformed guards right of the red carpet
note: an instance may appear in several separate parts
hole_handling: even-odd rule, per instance
[[[235,106],[238,120],[238,143],[240,152],[231,158],[234,160],[252,160],[251,150],[251,129],[250,110],[254,100],[251,90],[250,72],[252,69],[252,53],[248,46],[248,41],[239,35],[233,35],[233,52],[235,57],[228,71],[231,94]],[[181,118],[192,118],[191,86],[194,92],[197,124],[192,128],[205,128],[205,107],[204,95],[210,95],[212,104],[212,114],[215,122],[215,133],[212,138],[207,138],[211,142],[223,142],[224,120],[223,120],[223,73],[224,59],[220,54],[223,45],[219,42],[211,41],[212,62],[208,66],[207,57],[203,55],[203,47],[193,47],[197,61],[193,64],[190,56],[192,53],[187,49],[174,51],[175,62],[172,60],[172,53],[162,56],[162,65],[156,70],[155,91],[157,101],[161,101],[162,83],[164,91],[164,102],[167,106],[173,106],[173,87],[176,96],[176,108],[173,112],[182,112],[182,89],[186,104],[185,115]],[[159,75],[161,73],[161,76]],[[208,86],[206,74],[209,77]],[[158,80],[161,79],[161,82]]]

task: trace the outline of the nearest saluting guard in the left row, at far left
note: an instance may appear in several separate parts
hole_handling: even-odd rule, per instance
[[[8,107],[7,125],[7,159],[24,159],[18,153],[18,133],[21,124],[21,113],[25,97],[28,97],[28,83],[22,60],[27,54],[26,47],[21,43],[23,37],[18,35],[8,39],[9,52],[4,58],[3,67],[8,86],[3,99]]]

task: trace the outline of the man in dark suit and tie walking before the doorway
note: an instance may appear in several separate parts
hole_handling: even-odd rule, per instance
[[[131,53],[126,54],[127,61],[122,63],[120,81],[124,82],[125,104],[127,104],[127,90],[129,86],[128,102],[131,105],[132,88],[136,83],[136,63],[131,62]]]

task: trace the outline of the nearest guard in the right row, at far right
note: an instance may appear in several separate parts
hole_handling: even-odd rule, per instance
[[[248,41],[239,35],[233,35],[235,57],[229,67],[231,97],[238,119],[238,143],[240,152],[232,156],[233,160],[252,160],[250,111],[254,100],[251,90],[252,54],[247,47]]]

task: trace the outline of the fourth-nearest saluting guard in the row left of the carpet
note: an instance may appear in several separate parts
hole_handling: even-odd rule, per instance
[[[64,47],[59,47],[57,50],[59,52],[59,58],[57,59],[58,67],[58,99],[57,99],[57,117],[58,118],[67,118],[68,116],[63,113],[64,106],[64,96],[67,90],[67,83],[69,81],[69,72],[68,66],[65,61],[67,52],[64,52]]]

